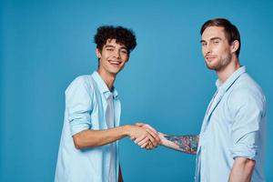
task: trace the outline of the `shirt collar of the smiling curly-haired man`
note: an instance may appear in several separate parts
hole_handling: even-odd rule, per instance
[[[106,96],[106,98],[108,98],[108,96],[111,96],[111,95],[113,95],[114,98],[116,98],[116,96],[118,96],[115,86],[113,86],[112,92],[110,92],[109,88],[106,86],[105,81],[96,71],[93,72],[92,77],[96,81],[99,92],[101,94],[104,94]]]

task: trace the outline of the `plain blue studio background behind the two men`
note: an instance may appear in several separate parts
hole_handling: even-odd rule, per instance
[[[66,86],[91,74],[99,25],[134,29],[136,50],[116,87],[122,124],[147,122],[167,134],[198,134],[216,87],[199,43],[207,19],[226,17],[241,33],[240,62],[268,99],[265,173],[273,181],[272,1],[1,1],[0,181],[53,181]],[[195,156],[145,151],[120,141],[125,181],[193,181]],[[217,172],[217,171],[216,171]]]

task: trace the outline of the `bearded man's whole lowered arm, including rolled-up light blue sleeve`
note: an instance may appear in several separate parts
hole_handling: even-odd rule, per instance
[[[266,116],[266,101],[263,96],[253,95],[252,91],[248,89],[234,91],[228,100],[233,120],[230,150],[234,158],[229,182],[251,181],[256,160],[260,160],[258,149],[265,142],[262,138],[265,133],[266,121],[263,117]]]

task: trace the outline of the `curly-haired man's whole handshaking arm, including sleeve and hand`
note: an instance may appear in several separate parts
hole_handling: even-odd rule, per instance
[[[157,145],[159,137],[139,126],[118,126],[105,130],[93,130],[90,113],[93,112],[94,88],[83,76],[77,77],[66,89],[66,111],[75,147],[99,147],[125,136],[147,137]],[[154,135],[154,136],[153,136]]]

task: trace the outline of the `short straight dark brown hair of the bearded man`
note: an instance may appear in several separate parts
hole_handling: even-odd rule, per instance
[[[236,25],[232,25],[225,18],[215,18],[215,19],[207,20],[207,22],[205,22],[205,24],[202,25],[200,34],[202,35],[203,32],[206,30],[206,28],[209,26],[224,27],[225,35],[227,37],[227,41],[229,45],[231,45],[233,41],[238,40],[239,46],[238,46],[238,50],[236,51],[236,55],[239,56],[240,47],[241,47],[241,39],[240,39],[240,33],[238,32],[238,28],[236,27]]]

